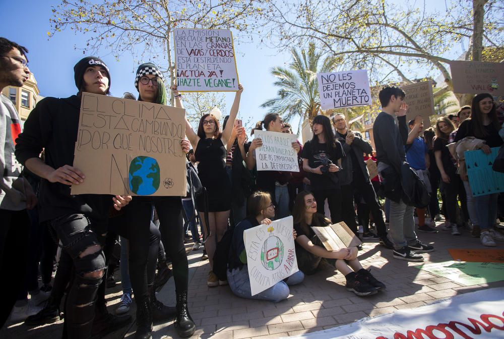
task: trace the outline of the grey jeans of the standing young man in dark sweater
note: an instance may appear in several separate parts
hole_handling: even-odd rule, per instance
[[[389,235],[396,250],[417,241],[414,210],[415,207],[406,205],[402,199],[390,201]]]

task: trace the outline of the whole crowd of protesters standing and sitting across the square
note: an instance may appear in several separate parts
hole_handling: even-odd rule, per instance
[[[27,53],[0,38],[0,88],[28,79]],[[423,261],[421,253],[434,250],[416,232],[437,233],[440,214],[442,229],[453,236],[468,228],[484,246],[504,241],[496,228],[504,206],[499,194],[473,196],[464,166],[464,151],[488,154],[503,144],[502,118],[490,94],[476,95],[471,106],[439,117],[434,128],[423,131],[429,122],[421,117],[406,121],[405,92],[385,86],[373,125],[376,150],[350,130],[344,115],[319,115],[312,121],[312,138],[292,143],[299,172],[279,172],[257,170],[263,140],[254,132],[292,134],[292,129],[270,113],[245,131],[237,118],[244,92],[239,85],[222,129],[212,114],[203,115],[196,130],[185,121],[187,140],[179,147],[187,156],[186,196],[71,195],[71,186],[86,180],[73,166],[81,94],[109,95],[111,78],[103,60],[83,58],[74,67],[77,94],[38,102],[23,131],[14,105],[1,97],[0,263],[9,279],[0,326],[9,317],[26,325],[51,323],[64,312],[63,337],[99,338],[131,324],[134,301],[135,338],[151,338],[153,322],[172,319],[180,336],[191,336],[196,326],[188,309],[184,245],[190,240],[209,260],[209,287],[229,285],[239,297],[272,302],[286,299],[289,286],[323,263],[344,274],[346,289],[358,296],[386,288],[360,264],[361,246],[328,251],[311,227],[344,222],[356,237],[376,240],[394,258],[408,261]],[[155,64],[140,65],[132,84],[138,98],[125,97],[168,104]],[[176,86],[171,91],[175,107],[183,108],[183,94]],[[370,178],[368,168],[378,174]],[[243,233],[289,215],[299,271],[251,295]],[[110,314],[105,289],[115,285],[114,267],[120,268],[123,294]],[[171,277],[175,307],[156,298]]]

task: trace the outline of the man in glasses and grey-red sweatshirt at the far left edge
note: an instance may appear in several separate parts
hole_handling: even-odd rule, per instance
[[[28,50],[6,38],[0,38],[0,93],[7,86],[21,87],[28,80],[30,70],[26,53]],[[16,138],[21,127],[16,108],[11,100],[0,94],[0,275],[5,291],[0,306],[0,328],[4,325],[23,288],[27,260],[28,218],[27,209],[32,209],[37,198],[21,176],[22,166],[14,157]],[[24,307],[25,317],[30,305]],[[31,314],[36,313],[34,310]]]

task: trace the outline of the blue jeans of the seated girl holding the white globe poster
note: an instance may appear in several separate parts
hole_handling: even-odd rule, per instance
[[[247,265],[244,265],[242,269],[235,268],[232,271],[227,271],[227,281],[231,291],[233,291],[235,295],[241,298],[268,300],[274,303],[287,299],[290,293],[288,285],[299,284],[303,279],[303,272],[297,271],[289,276],[286,282],[279,281],[269,289],[253,296],[250,292],[250,278],[248,277]]]

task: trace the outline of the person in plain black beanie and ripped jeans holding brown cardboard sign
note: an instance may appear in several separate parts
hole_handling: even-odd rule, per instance
[[[74,265],[73,283],[66,299],[64,335],[87,339],[92,334],[101,337],[130,321],[129,317],[119,319],[108,314],[103,298],[97,304],[97,293],[106,269],[103,246],[109,213],[127,205],[131,196],[70,194],[71,185],[86,180],[85,173],[73,166],[81,94],[106,95],[110,90],[108,68],[96,57],[79,61],[74,74],[77,95],[64,99],[47,97],[37,104],[16,140],[16,157],[42,178],[40,221],[50,221],[62,243],[61,255],[70,257]],[[39,157],[42,149],[44,160]]]

